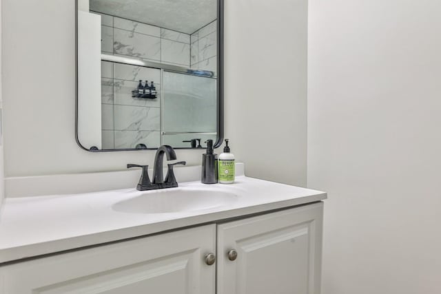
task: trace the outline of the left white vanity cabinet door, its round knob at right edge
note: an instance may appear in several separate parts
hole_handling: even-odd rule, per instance
[[[0,267],[1,294],[214,294],[214,224]]]

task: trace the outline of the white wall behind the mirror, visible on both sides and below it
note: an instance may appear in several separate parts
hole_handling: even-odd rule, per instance
[[[6,176],[152,164],[154,151],[96,154],[75,143],[74,1],[3,2]],[[226,2],[225,128],[232,151],[250,176],[305,185],[306,0]],[[177,155],[199,165],[201,154]]]

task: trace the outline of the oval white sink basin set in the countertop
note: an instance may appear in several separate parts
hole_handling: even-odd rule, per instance
[[[212,209],[236,200],[234,193],[225,191],[172,188],[145,191],[139,196],[113,204],[112,209],[129,213],[177,213]]]

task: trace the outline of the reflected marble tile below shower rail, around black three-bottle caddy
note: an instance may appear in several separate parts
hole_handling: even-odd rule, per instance
[[[143,83],[161,81],[161,71],[107,61],[101,63],[101,70],[103,149],[130,149],[139,143],[158,147],[161,143],[160,98],[132,98],[131,93],[140,79]],[[161,85],[154,84],[161,92]]]

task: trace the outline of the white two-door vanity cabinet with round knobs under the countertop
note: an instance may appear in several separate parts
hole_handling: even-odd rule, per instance
[[[0,294],[319,294],[322,209],[316,202],[1,266]]]

